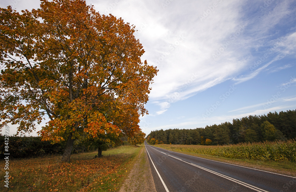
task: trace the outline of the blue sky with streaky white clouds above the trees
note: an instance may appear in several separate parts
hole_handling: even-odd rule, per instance
[[[296,109],[294,0],[86,3],[135,25],[142,60],[159,69],[139,124],[146,134]],[[0,5],[31,10],[39,1]]]

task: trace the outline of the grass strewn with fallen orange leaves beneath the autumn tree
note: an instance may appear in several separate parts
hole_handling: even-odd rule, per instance
[[[128,175],[133,159],[141,147],[120,146],[103,151],[71,155],[71,162],[61,156],[0,161],[0,191],[118,191]],[[5,187],[5,172],[9,171],[9,188]]]

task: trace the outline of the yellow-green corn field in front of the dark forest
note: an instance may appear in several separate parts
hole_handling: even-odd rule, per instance
[[[199,153],[231,159],[296,162],[296,140],[240,143],[235,145],[159,145],[176,151]]]

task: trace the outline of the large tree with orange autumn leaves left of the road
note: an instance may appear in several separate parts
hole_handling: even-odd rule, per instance
[[[0,9],[0,128],[18,124],[66,140],[69,161],[81,134],[132,136],[157,70],[146,61],[134,27],[100,15],[82,0],[42,0],[40,9]]]

